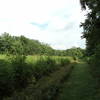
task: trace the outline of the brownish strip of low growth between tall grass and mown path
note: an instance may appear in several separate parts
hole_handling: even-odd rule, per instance
[[[47,59],[50,61],[50,58]],[[44,75],[45,77],[36,81],[35,84],[32,82],[22,91],[14,92],[11,97],[5,98],[4,100],[52,100],[59,92],[62,81],[64,81],[65,77],[69,76],[71,69],[71,65],[59,67],[53,73],[47,76]]]

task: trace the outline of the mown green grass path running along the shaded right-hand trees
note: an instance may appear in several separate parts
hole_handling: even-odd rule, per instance
[[[71,76],[64,83],[63,90],[57,100],[100,100],[97,82],[90,74],[85,62],[75,65]]]

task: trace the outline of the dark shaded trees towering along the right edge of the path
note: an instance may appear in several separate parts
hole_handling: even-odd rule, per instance
[[[83,27],[86,38],[86,55],[94,75],[100,76],[100,0],[80,0],[84,10],[89,9]]]

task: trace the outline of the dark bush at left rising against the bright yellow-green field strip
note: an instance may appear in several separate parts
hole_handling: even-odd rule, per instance
[[[32,78],[32,67],[25,62],[25,59],[25,56],[18,55],[12,60],[15,89],[26,87],[29,79]]]

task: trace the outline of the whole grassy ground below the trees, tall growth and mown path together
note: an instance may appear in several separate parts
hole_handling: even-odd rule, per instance
[[[98,85],[83,60],[0,55],[0,100],[99,100]]]

